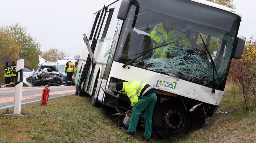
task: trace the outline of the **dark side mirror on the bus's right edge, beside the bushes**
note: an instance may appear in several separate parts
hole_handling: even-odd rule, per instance
[[[236,37],[236,43],[235,43],[232,58],[241,59],[243,51],[244,51],[244,43],[245,43],[244,39],[242,39],[240,37]]]

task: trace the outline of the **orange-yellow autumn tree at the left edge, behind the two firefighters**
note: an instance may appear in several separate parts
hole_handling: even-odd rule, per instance
[[[0,82],[4,83],[5,62],[17,61],[21,47],[5,28],[0,27]]]

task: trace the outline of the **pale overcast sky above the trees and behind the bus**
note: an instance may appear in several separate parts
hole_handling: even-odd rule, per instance
[[[83,33],[88,33],[92,13],[106,0],[0,0],[0,26],[18,22],[37,39],[41,51],[58,48],[74,56],[84,46]],[[234,0],[242,13],[238,36],[247,38],[256,33],[256,1]],[[255,39],[255,38],[254,38]]]

